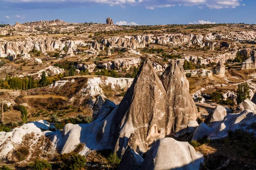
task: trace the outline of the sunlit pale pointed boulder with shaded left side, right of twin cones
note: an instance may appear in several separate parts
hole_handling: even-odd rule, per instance
[[[227,114],[233,113],[228,108],[217,105],[216,108],[204,120],[204,123],[209,127],[218,126]]]

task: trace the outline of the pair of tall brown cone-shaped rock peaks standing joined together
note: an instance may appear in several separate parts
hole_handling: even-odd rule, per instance
[[[128,143],[141,154],[166,135],[186,133],[189,121],[197,119],[197,108],[189,94],[189,82],[182,63],[171,62],[161,77],[149,59],[119,104],[115,150],[123,154]],[[134,134],[134,135],[131,135]]]

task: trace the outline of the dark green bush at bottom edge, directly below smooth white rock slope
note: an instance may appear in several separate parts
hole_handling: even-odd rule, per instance
[[[71,157],[70,155],[64,154],[61,161],[61,167],[64,170],[80,170],[86,165],[85,157],[79,154],[72,155]]]

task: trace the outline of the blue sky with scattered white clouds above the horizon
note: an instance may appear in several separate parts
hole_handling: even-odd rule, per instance
[[[105,23],[111,17],[114,24],[256,24],[255,8],[256,0],[0,0],[0,22]]]

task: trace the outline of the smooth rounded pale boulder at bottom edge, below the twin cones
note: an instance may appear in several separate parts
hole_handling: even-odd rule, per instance
[[[195,152],[188,142],[173,138],[157,140],[148,151],[142,170],[199,170],[203,155]]]

